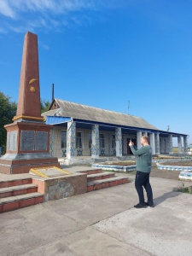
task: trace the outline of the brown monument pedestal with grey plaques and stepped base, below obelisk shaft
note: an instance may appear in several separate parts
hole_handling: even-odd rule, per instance
[[[0,172],[28,173],[32,168],[60,167],[57,158],[49,154],[50,125],[21,121],[5,125],[8,132],[7,151],[0,158]]]

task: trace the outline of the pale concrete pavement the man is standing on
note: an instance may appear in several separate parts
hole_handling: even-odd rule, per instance
[[[133,207],[132,181],[0,214],[0,255],[192,255],[192,195],[174,192],[180,183],[151,178],[154,208]]]

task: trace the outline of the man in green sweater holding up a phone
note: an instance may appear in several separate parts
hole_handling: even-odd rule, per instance
[[[152,163],[152,148],[148,144],[148,136],[141,137],[142,148],[137,149],[136,146],[130,141],[129,146],[137,159],[137,173],[135,180],[135,187],[139,197],[139,203],[134,206],[135,208],[154,207],[153,192],[149,183],[149,175],[151,172]],[[143,187],[147,192],[148,202],[144,201]]]

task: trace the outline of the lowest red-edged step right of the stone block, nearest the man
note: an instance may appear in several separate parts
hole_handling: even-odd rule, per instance
[[[118,186],[128,182],[129,182],[129,178],[123,177],[123,176],[108,177],[100,180],[94,180],[87,183],[87,192],[98,190],[98,189],[106,189],[109,187]]]

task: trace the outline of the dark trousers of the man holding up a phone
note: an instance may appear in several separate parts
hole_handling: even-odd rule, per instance
[[[153,206],[153,192],[151,189],[151,185],[149,183],[149,174],[148,172],[136,172],[136,180],[135,180],[135,187],[137,189],[137,194],[139,197],[139,202],[144,204],[144,194],[143,194],[143,187],[147,192],[148,196],[148,205]]]

